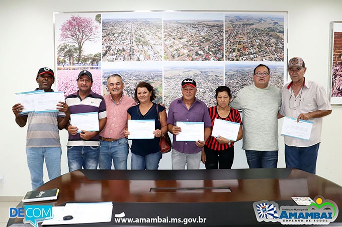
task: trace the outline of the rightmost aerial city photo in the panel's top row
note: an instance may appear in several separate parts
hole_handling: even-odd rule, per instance
[[[225,14],[226,61],[284,61],[282,14]]]

